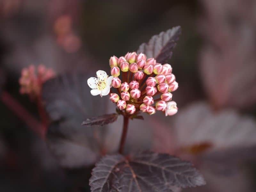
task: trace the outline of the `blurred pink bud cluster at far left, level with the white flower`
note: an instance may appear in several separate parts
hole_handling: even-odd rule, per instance
[[[23,68],[19,80],[20,93],[35,98],[40,95],[42,84],[54,76],[54,71],[51,68],[45,68],[44,65],[39,65],[37,68],[34,65]]]

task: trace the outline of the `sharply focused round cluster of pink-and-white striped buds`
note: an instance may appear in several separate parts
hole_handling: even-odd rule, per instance
[[[177,113],[171,92],[178,89],[178,83],[170,64],[162,65],[143,53],[128,52],[119,58],[110,57],[109,66],[114,77],[111,85],[116,88],[115,93],[110,93],[110,100],[117,108],[130,115],[136,111],[152,115],[156,110],[166,116]]]

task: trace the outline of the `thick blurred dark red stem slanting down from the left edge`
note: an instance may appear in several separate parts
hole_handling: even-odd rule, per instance
[[[2,102],[12,112],[24,121],[28,127],[38,134],[41,138],[45,136],[45,127],[39,121],[37,121],[18,101],[16,101],[8,92],[3,91],[1,94]]]

